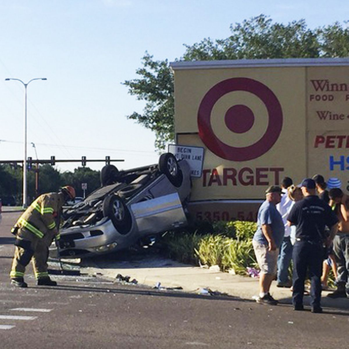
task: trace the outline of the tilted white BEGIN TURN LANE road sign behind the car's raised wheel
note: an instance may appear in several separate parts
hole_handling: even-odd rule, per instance
[[[191,177],[200,178],[202,175],[203,147],[182,146],[180,144],[169,144],[169,153],[176,156],[177,160],[185,159],[191,170]]]

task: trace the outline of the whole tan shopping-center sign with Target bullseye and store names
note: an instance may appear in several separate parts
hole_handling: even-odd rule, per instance
[[[349,59],[171,67],[176,143],[205,148],[202,176],[193,179],[193,207],[208,202],[245,207],[260,202],[266,188],[285,176],[297,184],[317,173],[329,187],[348,193]],[[229,219],[237,215],[234,210]]]

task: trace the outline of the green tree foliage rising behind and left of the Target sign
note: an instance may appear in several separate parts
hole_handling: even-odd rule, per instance
[[[347,22],[344,23],[347,25]],[[348,57],[349,28],[339,22],[309,29],[305,20],[275,23],[265,15],[230,25],[225,39],[205,38],[184,45],[181,60]],[[138,79],[127,80],[131,95],[146,101],[143,113],[127,116],[155,132],[155,146],[161,150],[174,140],[174,79],[168,60],[153,60],[148,52],[142,58]]]

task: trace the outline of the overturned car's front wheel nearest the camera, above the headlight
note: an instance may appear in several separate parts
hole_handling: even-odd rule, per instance
[[[132,217],[124,201],[117,195],[109,195],[103,201],[103,215],[109,217],[120,234],[127,234],[132,227]]]

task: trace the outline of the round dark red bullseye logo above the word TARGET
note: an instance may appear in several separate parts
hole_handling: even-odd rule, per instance
[[[215,135],[211,125],[211,112],[215,103],[225,94],[233,91],[246,91],[257,96],[265,105],[268,113],[266,132],[255,143],[247,147],[232,147]],[[255,117],[246,105],[232,105],[224,115],[227,128],[234,133],[243,134],[251,129]],[[282,109],[273,91],[259,81],[246,77],[223,80],[213,86],[203,97],[198,111],[199,136],[203,143],[217,156],[232,160],[246,161],[265,154],[279,138],[282,128]]]

